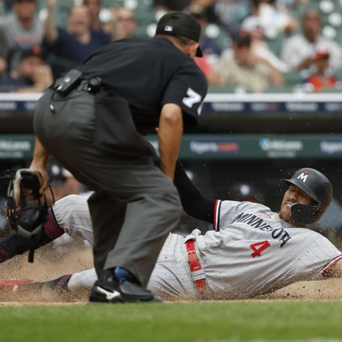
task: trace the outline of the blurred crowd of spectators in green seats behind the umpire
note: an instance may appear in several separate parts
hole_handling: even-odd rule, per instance
[[[2,1],[1,92],[41,92],[111,41],[152,37],[153,25],[168,11],[185,11],[201,24],[204,57],[196,63],[212,86],[246,92],[294,84],[306,92],[341,89],[341,1],[113,0],[104,7],[102,0],[75,0],[67,2],[64,25],[56,24],[58,2],[70,0]],[[153,14],[143,33],[137,32],[140,2]]]

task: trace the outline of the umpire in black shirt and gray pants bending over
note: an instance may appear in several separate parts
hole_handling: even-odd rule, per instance
[[[43,174],[40,193],[49,154],[95,190],[88,204],[99,280],[91,302],[158,301],[146,285],[181,214],[172,182],[183,127],[196,126],[207,92],[193,60],[202,56],[199,38],[194,18],[168,13],[154,38],[106,45],[37,103],[30,167]],[[143,136],[156,127],[161,170]]]

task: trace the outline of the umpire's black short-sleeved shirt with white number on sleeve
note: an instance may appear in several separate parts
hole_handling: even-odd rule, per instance
[[[110,94],[123,97],[142,134],[154,132],[166,103],[182,108],[185,129],[197,125],[206,78],[192,58],[167,39],[118,40],[97,50],[77,69],[87,80],[100,77]]]

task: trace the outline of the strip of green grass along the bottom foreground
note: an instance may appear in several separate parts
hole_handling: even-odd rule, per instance
[[[342,341],[342,302],[0,307],[1,341]]]

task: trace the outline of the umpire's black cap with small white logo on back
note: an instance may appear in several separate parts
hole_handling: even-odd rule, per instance
[[[182,36],[198,43],[201,36],[201,25],[191,15],[182,12],[171,12],[160,18],[156,35]],[[202,51],[198,47],[196,57],[202,56]]]

